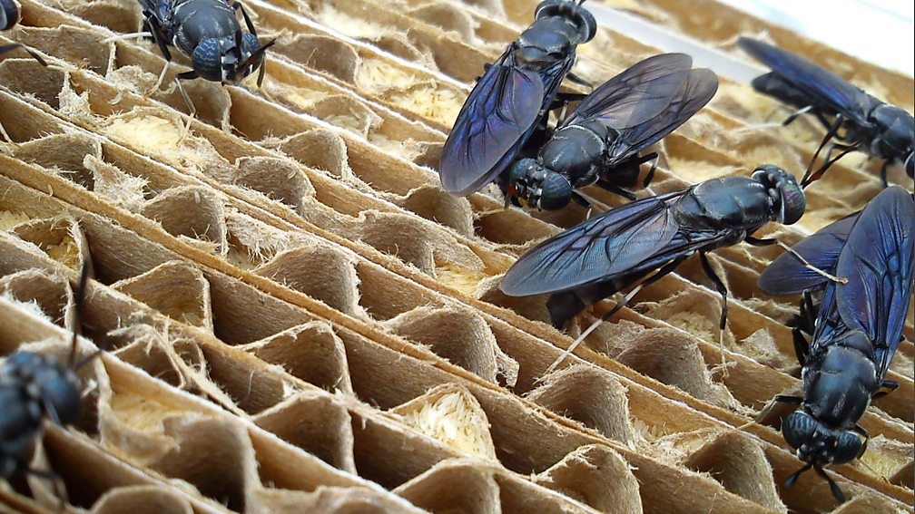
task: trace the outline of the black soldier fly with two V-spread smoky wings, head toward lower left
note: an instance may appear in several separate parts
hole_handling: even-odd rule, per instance
[[[662,54],[630,67],[591,92],[562,120],[536,158],[511,167],[508,194],[522,206],[560,209],[574,191],[597,183],[634,200],[639,166],[657,154],[639,155],[686,122],[718,89],[711,70],[690,70],[685,54]],[[651,181],[652,166],[645,185]]]

